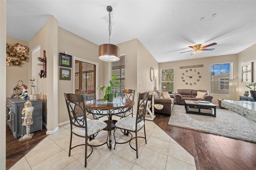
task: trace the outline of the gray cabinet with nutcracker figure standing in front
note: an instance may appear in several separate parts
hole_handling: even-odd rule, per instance
[[[6,124],[12,130],[15,138],[22,134],[22,109],[27,100],[20,98],[6,98]],[[30,125],[30,133],[42,130],[42,100],[31,100],[33,111],[33,124]],[[23,135],[26,134],[26,127],[23,127]]]

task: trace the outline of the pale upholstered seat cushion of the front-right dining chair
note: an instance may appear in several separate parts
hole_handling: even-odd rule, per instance
[[[140,130],[144,125],[144,121],[141,121],[137,125],[137,130]],[[136,118],[135,117],[125,117],[123,119],[120,119],[116,123],[116,127],[126,129],[126,130],[131,130],[135,131],[135,126],[136,126]]]

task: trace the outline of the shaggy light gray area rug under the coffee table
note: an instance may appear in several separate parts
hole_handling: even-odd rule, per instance
[[[184,106],[174,105],[168,124],[256,143],[248,120],[230,110],[217,109],[216,117],[211,117],[187,114]]]

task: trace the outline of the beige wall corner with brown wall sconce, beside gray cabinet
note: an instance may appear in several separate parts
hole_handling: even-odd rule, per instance
[[[47,120],[47,133],[53,133],[58,128],[58,21],[54,16],[47,16],[47,23],[29,41],[30,56],[32,49],[40,45],[40,56],[46,51],[46,78],[40,79],[41,95],[47,94],[47,99],[43,101],[43,115]],[[31,79],[32,62],[30,59],[28,69],[28,79]],[[43,120],[44,122],[46,120]]]

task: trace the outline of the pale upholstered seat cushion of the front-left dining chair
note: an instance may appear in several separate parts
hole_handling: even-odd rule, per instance
[[[100,130],[107,127],[107,124],[103,121],[95,120],[95,119],[87,119],[87,134],[91,136]],[[72,127],[72,132],[78,134],[80,136],[85,136],[85,128],[80,127]]]

